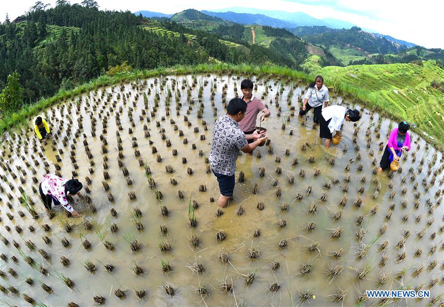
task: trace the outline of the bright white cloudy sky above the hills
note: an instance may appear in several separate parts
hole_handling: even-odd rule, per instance
[[[1,1],[0,20],[9,19],[26,12],[36,1]],[[55,0],[42,0],[55,5]],[[81,0],[71,0],[72,4]],[[187,8],[197,10],[223,9],[243,6],[239,0],[97,0],[100,9],[108,10],[149,10],[162,13],[176,13]],[[362,28],[373,29],[398,39],[407,40],[427,48],[444,48],[443,14],[440,1],[422,0],[255,0],[246,1],[255,8],[304,12],[315,18],[334,18],[351,22]],[[441,7],[441,9],[439,8]]]

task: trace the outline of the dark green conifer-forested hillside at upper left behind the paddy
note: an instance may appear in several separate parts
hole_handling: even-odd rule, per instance
[[[71,5],[63,0],[50,9],[34,7],[26,21],[6,20],[0,25],[0,90],[6,76],[16,71],[24,89],[22,102],[27,104],[124,62],[132,68],[149,69],[206,63],[214,58],[234,64],[296,67],[288,57],[267,48],[230,48],[216,35],[204,32],[196,32],[192,40],[185,35],[163,35],[144,29],[146,22],[129,11],[101,11],[94,4]],[[174,23],[166,27],[185,31]]]

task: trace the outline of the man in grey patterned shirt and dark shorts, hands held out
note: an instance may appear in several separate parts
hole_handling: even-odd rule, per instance
[[[259,134],[254,131],[248,136],[243,133],[238,123],[244,118],[246,110],[246,102],[240,98],[233,98],[228,102],[226,114],[220,116],[214,124],[209,161],[211,170],[218,178],[221,195],[217,204],[222,208],[233,196],[234,169],[239,150],[245,153],[251,152],[267,139],[265,132]],[[253,141],[248,143],[248,140]]]

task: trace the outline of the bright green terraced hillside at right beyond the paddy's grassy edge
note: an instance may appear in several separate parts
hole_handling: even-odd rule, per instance
[[[425,136],[444,140],[444,94],[430,86],[444,70],[434,61],[413,64],[330,66],[318,69],[326,84],[370,101],[387,113],[415,123]]]

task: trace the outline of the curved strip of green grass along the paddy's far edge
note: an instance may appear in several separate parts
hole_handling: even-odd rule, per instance
[[[256,75],[265,76],[270,75],[272,77],[289,78],[293,81],[299,82],[311,82],[314,78],[314,74],[306,74],[301,71],[297,71],[291,68],[275,66],[275,65],[231,65],[231,64],[200,64],[196,66],[184,66],[176,65],[170,68],[156,68],[152,70],[134,69],[132,71],[119,73],[115,76],[101,75],[98,78],[91,80],[87,83],[79,85],[72,90],[66,91],[65,89],[60,89],[60,91],[50,97],[41,98],[38,102],[26,105],[22,107],[19,111],[5,114],[3,118],[0,119],[0,131],[7,132],[14,128],[19,128],[22,125],[28,126],[30,117],[40,114],[43,110],[48,107],[66,101],[67,99],[73,99],[74,97],[96,90],[101,87],[111,86],[121,82],[130,82],[138,78],[150,78],[160,75],[184,75],[184,74],[200,74],[200,73],[218,73],[218,74],[237,74],[237,75]],[[334,93],[341,95],[343,98],[353,99],[355,102],[363,104],[370,110],[378,111],[381,115],[389,117],[393,120],[405,120],[397,113],[391,113],[387,110],[381,109],[378,103],[372,99],[371,94],[360,88],[354,87],[348,83],[336,82],[328,84],[329,89],[333,90]],[[421,131],[416,128],[416,132]],[[430,138],[426,135],[422,135],[423,138],[428,140],[432,145],[434,145],[440,151],[443,151],[443,145],[440,139]]]

